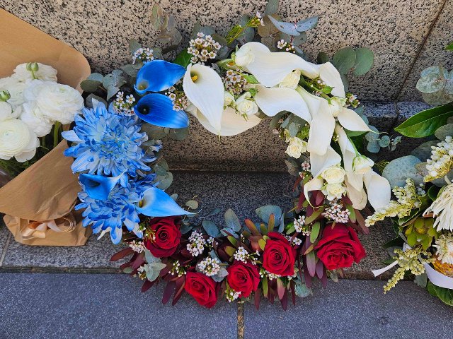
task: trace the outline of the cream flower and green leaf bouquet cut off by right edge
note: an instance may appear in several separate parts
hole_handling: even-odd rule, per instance
[[[447,50],[453,50],[453,44]],[[385,245],[395,254],[394,262],[374,275],[398,266],[385,292],[410,273],[415,283],[453,306],[453,70],[423,70],[417,89],[425,102],[437,106],[395,129],[428,141],[384,168],[394,200],[370,215],[366,224],[390,217],[398,237]]]

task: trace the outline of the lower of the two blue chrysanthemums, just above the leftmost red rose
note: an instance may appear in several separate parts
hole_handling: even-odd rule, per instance
[[[139,213],[136,203],[142,200],[144,191],[156,186],[154,179],[156,174],[148,174],[141,179],[130,179],[125,187],[116,185],[106,200],[90,198],[85,191],[79,193],[81,203],[76,210],[84,210],[83,226],[91,225],[93,232],[110,232],[114,244],[119,244],[122,237],[122,225],[127,230],[142,237],[139,231]],[[84,189],[84,187],[82,187]]]

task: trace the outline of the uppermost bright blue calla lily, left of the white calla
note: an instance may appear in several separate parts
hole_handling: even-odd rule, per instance
[[[185,68],[164,60],[149,61],[137,73],[137,93],[161,92],[171,88],[183,77]]]

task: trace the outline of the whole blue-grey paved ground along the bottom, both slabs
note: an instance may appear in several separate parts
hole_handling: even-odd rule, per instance
[[[452,338],[452,309],[411,282],[343,280],[285,312],[245,307],[245,338]],[[236,305],[161,304],[126,275],[0,273],[0,338],[236,338]]]

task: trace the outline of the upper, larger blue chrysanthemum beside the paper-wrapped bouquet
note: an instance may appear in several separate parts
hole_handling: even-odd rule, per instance
[[[137,117],[117,114],[99,103],[94,109],[83,109],[75,123],[73,130],[62,133],[67,141],[75,143],[64,152],[76,158],[71,166],[73,172],[107,176],[127,172],[136,177],[137,170],[149,171],[147,162],[156,159],[140,147],[148,136],[140,132],[142,125]],[[156,143],[152,150],[159,148],[161,144]]]

